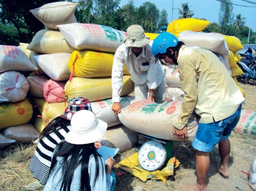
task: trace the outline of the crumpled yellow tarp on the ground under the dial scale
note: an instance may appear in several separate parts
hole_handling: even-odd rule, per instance
[[[161,180],[164,183],[166,182],[168,176],[173,175],[173,171],[175,168],[179,167],[180,162],[177,158],[172,157],[168,160],[166,167],[164,167],[161,171],[145,171],[141,169],[140,163],[138,160],[139,152],[134,153],[130,157],[125,158],[124,160],[118,162],[117,166],[124,171],[131,173],[133,176],[136,176],[141,181],[146,182],[148,179],[151,180]]]

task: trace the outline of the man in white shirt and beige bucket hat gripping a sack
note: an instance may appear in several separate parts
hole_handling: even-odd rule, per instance
[[[112,110],[116,115],[121,112],[124,64],[134,82],[135,100],[163,103],[166,98],[163,68],[153,56],[149,42],[143,27],[132,25],[124,43],[116,49],[112,68]]]

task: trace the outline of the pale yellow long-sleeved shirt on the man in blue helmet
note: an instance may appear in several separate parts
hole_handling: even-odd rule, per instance
[[[184,128],[193,111],[200,123],[220,121],[234,114],[244,101],[227,68],[211,51],[182,46],[177,61],[185,95],[173,123],[176,128]]]

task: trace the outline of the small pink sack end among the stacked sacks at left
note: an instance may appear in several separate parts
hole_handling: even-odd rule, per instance
[[[44,84],[44,98],[48,103],[65,102],[66,81],[56,81],[49,79]]]

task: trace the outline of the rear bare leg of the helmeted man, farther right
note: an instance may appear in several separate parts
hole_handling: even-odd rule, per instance
[[[228,178],[229,171],[228,171],[228,160],[230,155],[230,142],[229,139],[225,139],[219,142],[219,152],[220,152],[220,168],[218,172],[223,176],[223,178]]]

